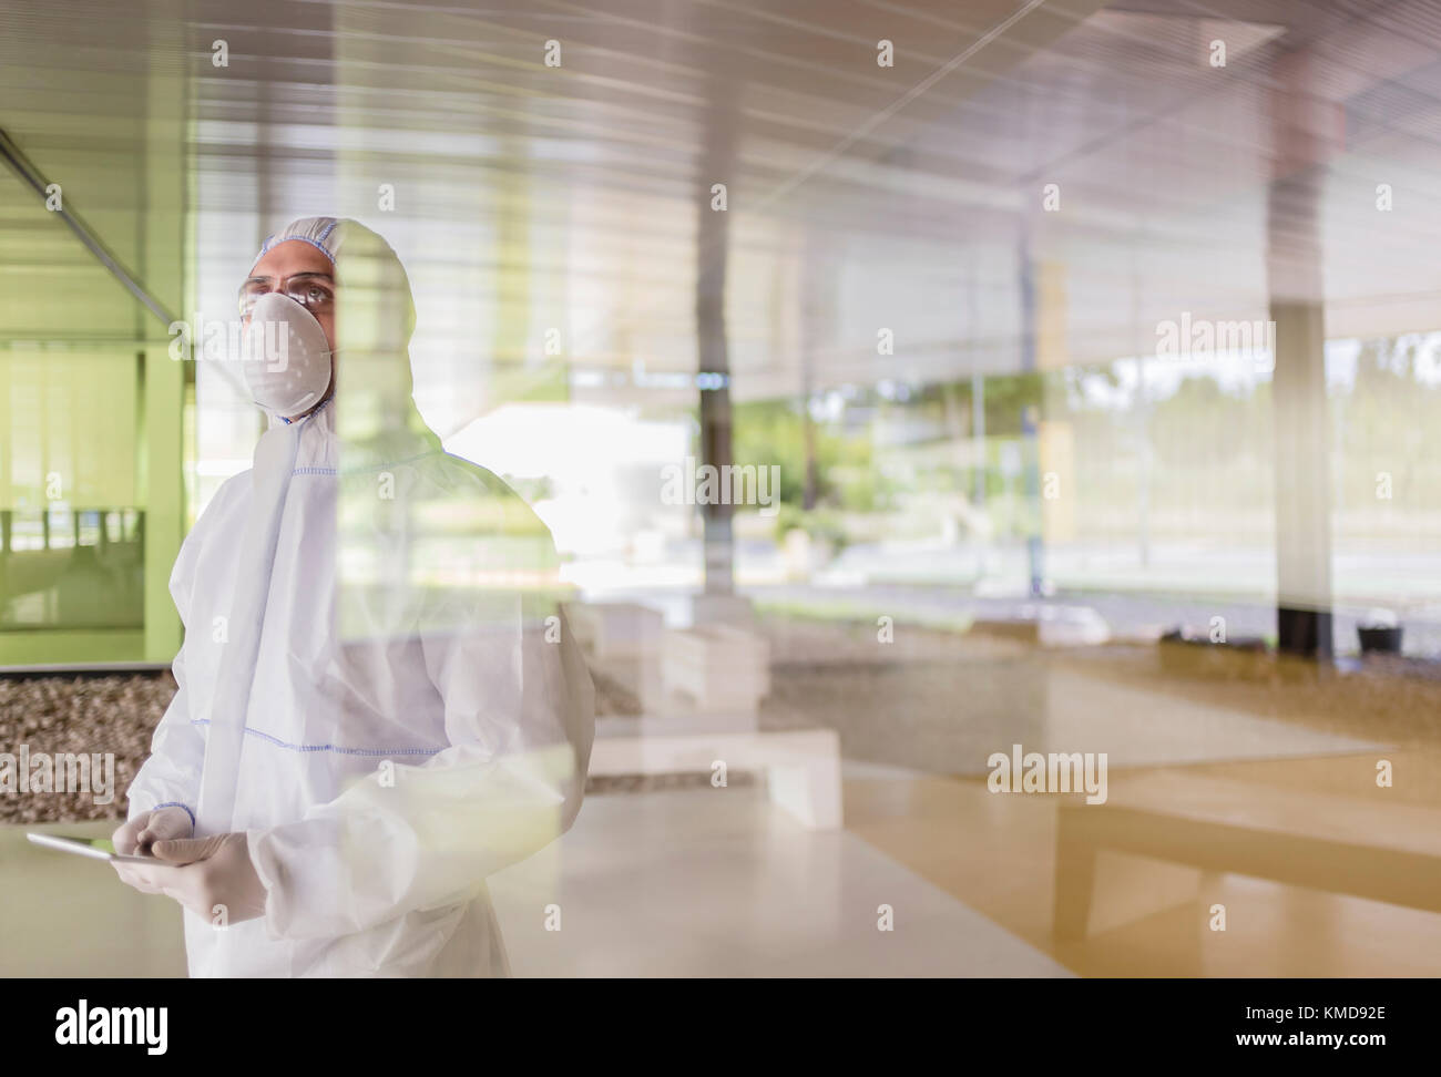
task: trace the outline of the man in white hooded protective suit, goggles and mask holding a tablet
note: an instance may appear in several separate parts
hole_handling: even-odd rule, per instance
[[[241,291],[269,416],[186,538],[179,691],[115,831],[184,906],[192,976],[509,965],[486,877],[579,811],[594,688],[550,536],[411,399],[389,245],[307,217]]]

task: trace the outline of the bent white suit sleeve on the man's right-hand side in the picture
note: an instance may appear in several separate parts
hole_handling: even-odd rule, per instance
[[[571,826],[594,736],[584,658],[553,602],[478,605],[419,641],[448,747],[249,832],[272,937],[334,937],[465,900]]]

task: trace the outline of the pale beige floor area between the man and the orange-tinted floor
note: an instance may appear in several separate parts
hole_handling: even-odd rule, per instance
[[[1063,976],[1033,946],[759,789],[604,796],[491,881],[519,976]],[[553,926],[559,910],[561,930]],[[889,906],[895,930],[878,929]]]

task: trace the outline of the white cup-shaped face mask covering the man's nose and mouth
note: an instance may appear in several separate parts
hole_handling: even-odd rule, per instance
[[[271,415],[308,412],[330,387],[331,351],[316,315],[282,292],[251,308],[245,330],[245,383]]]

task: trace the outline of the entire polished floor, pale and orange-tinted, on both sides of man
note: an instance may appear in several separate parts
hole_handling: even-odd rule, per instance
[[[1441,684],[1196,680],[976,646],[945,667],[912,654],[889,711],[859,688],[893,674],[857,672],[844,646],[830,680],[782,654],[780,695],[830,685],[804,698],[846,746],[844,828],[800,828],[764,783],[591,796],[562,842],[491,880],[516,975],[1441,973]],[[937,711],[901,713],[919,704]],[[1114,752],[1108,802],[990,792],[976,754],[1013,733]],[[0,880],[0,975],[183,975],[177,910],[104,864],[7,826]]]

